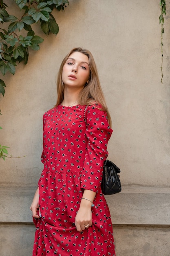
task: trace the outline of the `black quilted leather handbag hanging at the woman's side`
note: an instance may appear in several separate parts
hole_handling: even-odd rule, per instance
[[[102,177],[102,192],[104,195],[113,195],[121,191],[121,182],[119,167],[113,162],[106,160],[104,162],[103,177]]]

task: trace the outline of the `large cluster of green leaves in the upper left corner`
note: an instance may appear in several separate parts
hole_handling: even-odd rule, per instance
[[[26,64],[29,58],[29,49],[40,49],[43,42],[40,36],[35,35],[31,25],[39,24],[44,34],[57,35],[59,27],[51,14],[53,9],[64,10],[68,0],[15,0],[20,8],[18,17],[7,11],[7,4],[0,0],[0,72],[3,76],[9,71],[15,74],[15,66],[20,62]],[[3,29],[3,23],[8,23],[8,29]],[[25,32],[27,35],[25,36]],[[5,83],[0,79],[0,93],[4,96]]]

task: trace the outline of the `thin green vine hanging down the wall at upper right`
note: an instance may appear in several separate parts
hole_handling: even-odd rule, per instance
[[[166,0],[160,0],[161,15],[159,16],[159,24],[161,24],[161,83],[163,84],[163,33],[164,33],[164,17],[166,15]]]

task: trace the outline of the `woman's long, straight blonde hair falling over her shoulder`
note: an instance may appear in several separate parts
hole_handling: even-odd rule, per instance
[[[99,105],[102,106],[100,108],[100,110],[107,112],[108,123],[111,126],[111,117],[108,112],[108,108],[106,106],[106,101],[104,99],[104,94],[103,94],[103,91],[102,91],[102,88],[100,85],[99,76],[98,76],[97,67],[96,67],[94,58],[90,51],[88,51],[86,49],[82,49],[81,47],[72,49],[65,56],[65,58],[63,59],[61,65],[60,65],[60,69],[59,69],[58,77],[57,77],[57,103],[55,106],[58,106],[59,104],[61,104],[64,99],[64,84],[62,82],[62,70],[63,70],[63,67],[64,67],[68,57],[73,52],[80,52],[80,53],[88,56],[89,68],[90,68],[90,76],[88,79],[89,82],[84,85],[84,88],[79,93],[79,104],[80,105],[93,105],[94,103],[99,103]]]

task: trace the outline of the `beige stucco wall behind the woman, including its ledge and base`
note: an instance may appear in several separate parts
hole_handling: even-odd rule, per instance
[[[12,1],[6,2],[12,7]],[[42,115],[55,105],[55,76],[62,59],[70,49],[80,46],[93,53],[113,120],[109,159],[121,168],[122,192],[107,199],[113,224],[118,225],[117,256],[169,256],[170,3],[166,3],[163,36],[163,85],[159,0],[69,3],[65,12],[53,13],[59,34],[46,37],[38,28],[37,33],[45,39],[40,50],[30,51],[28,64],[21,63],[14,76],[4,78],[7,88],[4,98],[0,95],[0,144],[9,146],[13,157],[26,157],[0,160],[0,228],[3,231],[8,224],[8,236],[8,230],[21,227],[11,222],[24,225],[32,221],[29,204],[43,168]],[[152,227],[141,240],[144,225]],[[23,232],[26,229],[32,231],[31,243],[33,227],[24,226]],[[19,239],[21,233],[16,234]],[[128,235],[139,250],[129,247]],[[156,237],[162,235],[164,243],[161,240],[156,250]],[[0,239],[3,242],[4,236]],[[10,240],[6,238],[9,245]],[[19,240],[17,248],[21,243]],[[11,251],[10,246],[7,251],[1,247],[0,255],[22,256],[23,250],[20,253],[13,246]],[[31,250],[29,246],[24,255],[31,255]]]

